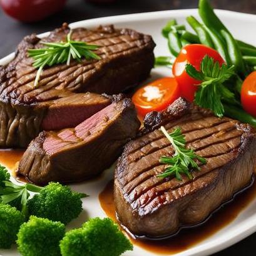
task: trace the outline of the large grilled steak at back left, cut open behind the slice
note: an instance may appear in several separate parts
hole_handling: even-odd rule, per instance
[[[63,24],[43,41],[64,41],[68,33],[68,25]],[[28,58],[27,50],[41,48],[42,44],[33,34],[21,41],[11,63],[0,66],[1,147],[24,147],[43,129],[76,126],[81,118],[85,119],[84,116],[74,120],[72,125],[69,121],[68,125],[64,123],[61,127],[52,125],[49,120],[54,113],[58,113],[58,120],[66,118],[65,111],[59,111],[56,100],[63,99],[58,101],[63,107],[68,101],[74,103],[74,93],[120,93],[147,78],[153,67],[155,43],[151,36],[131,29],[115,29],[113,26],[92,30],[78,28],[73,29],[72,39],[100,46],[96,53],[101,59],[83,59],[81,63],[71,61],[69,66],[59,64],[45,68],[38,87],[34,88],[37,70],[33,68],[33,59]],[[83,104],[82,99],[78,101]],[[55,105],[55,110],[48,114],[48,119],[45,115],[52,105]],[[77,107],[71,106],[72,109]],[[96,108],[101,109],[100,106]],[[49,122],[51,125],[48,126]]]

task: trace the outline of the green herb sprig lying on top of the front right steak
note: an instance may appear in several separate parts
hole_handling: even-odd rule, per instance
[[[165,172],[157,175],[160,178],[166,178],[175,175],[177,180],[182,180],[181,173],[192,178],[191,171],[199,170],[199,166],[195,162],[197,159],[205,164],[206,160],[202,156],[198,156],[192,149],[185,148],[185,135],[182,135],[180,128],[175,129],[172,133],[168,133],[163,126],[160,130],[172,144],[175,153],[173,156],[161,156],[160,163],[165,163],[167,167]]]

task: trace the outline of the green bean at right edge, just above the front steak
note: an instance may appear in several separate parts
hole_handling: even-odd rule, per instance
[[[249,115],[247,112],[242,110],[242,108],[238,108],[237,106],[232,106],[229,104],[223,104],[225,115],[230,118],[241,121],[242,123],[248,123],[249,125],[256,127],[256,118]]]

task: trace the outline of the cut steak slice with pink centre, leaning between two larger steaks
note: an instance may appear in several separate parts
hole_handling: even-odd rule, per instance
[[[93,177],[120,156],[139,128],[131,100],[115,98],[75,128],[41,132],[25,151],[18,172],[37,184]]]

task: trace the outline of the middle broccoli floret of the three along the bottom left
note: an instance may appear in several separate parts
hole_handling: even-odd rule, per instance
[[[31,216],[19,229],[18,250],[23,256],[59,256],[64,233],[63,223]]]

